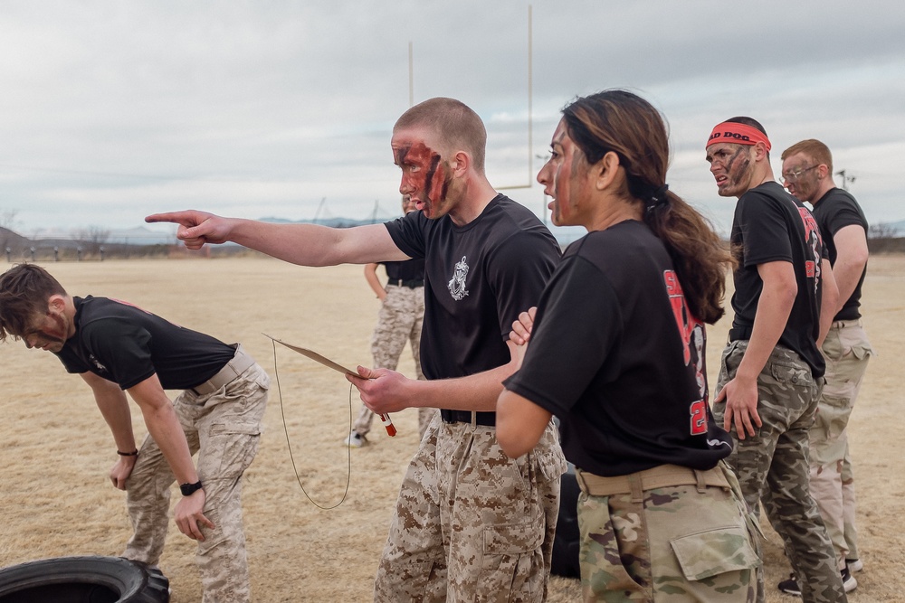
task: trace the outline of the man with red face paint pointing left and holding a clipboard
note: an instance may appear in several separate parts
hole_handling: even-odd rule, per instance
[[[528,209],[484,174],[481,118],[430,99],[396,121],[399,192],[418,212],[386,224],[330,229],[205,212],[162,213],[190,249],[236,243],[305,266],[424,258],[426,381],[358,367],[348,376],[377,413],[441,409],[403,481],[377,569],[375,601],[542,601],[566,461],[552,424],[529,454],[496,441],[496,400],[515,371],[510,325],[538,303],[560,256]]]

